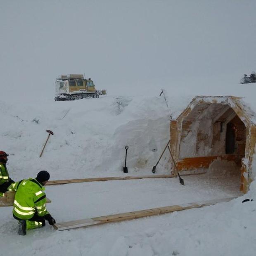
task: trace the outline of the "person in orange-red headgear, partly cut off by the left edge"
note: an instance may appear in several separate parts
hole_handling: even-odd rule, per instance
[[[9,185],[14,183],[14,180],[9,178],[9,173],[6,168],[6,163],[8,161],[7,156],[4,151],[0,151],[0,197],[5,196],[5,192],[8,191]]]

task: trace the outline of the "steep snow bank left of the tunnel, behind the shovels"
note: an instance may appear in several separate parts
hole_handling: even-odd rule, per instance
[[[150,173],[168,141],[170,109],[162,97],[0,104],[5,120],[1,149],[9,153],[14,180],[43,169],[51,179],[122,175],[125,146],[129,173]],[[54,135],[39,158],[48,135],[45,130]]]

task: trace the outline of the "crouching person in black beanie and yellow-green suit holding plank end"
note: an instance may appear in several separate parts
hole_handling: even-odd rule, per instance
[[[50,225],[55,219],[46,210],[46,195],[43,187],[50,178],[47,171],[40,171],[35,179],[13,183],[8,190],[16,191],[13,204],[13,217],[19,220],[19,235],[26,235],[26,230],[41,228],[45,220]]]

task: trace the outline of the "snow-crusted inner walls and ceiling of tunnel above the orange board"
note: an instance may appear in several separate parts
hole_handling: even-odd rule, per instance
[[[229,105],[199,104],[183,120],[179,158],[225,156],[241,166],[245,144],[246,126]]]

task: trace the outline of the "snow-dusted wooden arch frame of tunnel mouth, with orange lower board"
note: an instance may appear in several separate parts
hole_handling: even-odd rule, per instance
[[[181,158],[180,157],[180,141],[183,129],[183,121],[199,104],[223,104],[228,105],[235,111],[235,114],[241,119],[246,127],[246,145],[245,154],[242,159],[241,167],[241,183],[240,190],[246,193],[249,190],[249,185],[253,179],[252,163],[254,160],[254,151],[256,143],[256,126],[252,121],[254,113],[244,104],[242,98],[234,96],[196,96],[192,99],[190,104],[178,116],[177,119],[172,120],[170,124],[170,147],[176,161],[178,170],[180,172],[187,170],[195,170],[199,168],[208,168],[212,161],[217,158],[232,160],[232,156],[204,156],[194,158]]]

